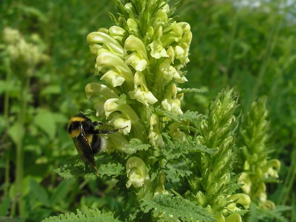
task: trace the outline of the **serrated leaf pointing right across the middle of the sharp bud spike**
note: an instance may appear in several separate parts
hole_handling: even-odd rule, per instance
[[[206,146],[202,146],[196,144],[194,141],[181,141],[178,140],[174,142],[174,147],[172,147],[172,151],[166,153],[164,151],[165,158],[167,160],[178,159],[181,155],[189,154],[192,152],[205,152],[213,154],[215,153],[215,149],[208,149]]]

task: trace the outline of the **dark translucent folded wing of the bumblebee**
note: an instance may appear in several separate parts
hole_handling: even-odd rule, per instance
[[[85,164],[94,163],[94,153],[91,149],[91,144],[87,139],[82,125],[80,125],[80,135],[73,138],[77,152]]]

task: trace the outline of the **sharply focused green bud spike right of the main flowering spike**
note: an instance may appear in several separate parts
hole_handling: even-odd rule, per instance
[[[186,193],[186,197],[208,208],[220,222],[241,221],[241,216],[235,213],[241,210],[237,203],[245,209],[250,205],[250,197],[246,194],[231,195],[232,192],[228,190],[236,183],[231,181],[231,164],[234,158],[234,131],[237,127],[237,118],[234,116],[237,100],[234,89],[226,88],[210,103],[208,119],[202,120],[196,141],[215,152],[200,153],[192,161],[193,173],[189,179],[191,189]]]

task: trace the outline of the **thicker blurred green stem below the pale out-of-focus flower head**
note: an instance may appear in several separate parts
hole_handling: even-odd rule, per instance
[[[25,133],[25,115],[27,108],[27,95],[29,93],[29,71],[25,73],[25,79],[22,86],[21,93],[21,108],[18,116],[18,122],[20,123],[20,138],[17,142],[17,159],[16,159],[16,195],[18,197],[18,209],[21,218],[24,218],[24,202],[22,199],[22,187],[23,187],[23,167],[24,167],[24,150],[23,150],[23,138]]]

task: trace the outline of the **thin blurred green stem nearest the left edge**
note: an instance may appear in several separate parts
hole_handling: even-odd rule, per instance
[[[5,60],[5,65],[6,65],[6,82],[7,84],[9,83],[10,79],[10,61],[9,59]],[[9,112],[9,90],[5,90],[5,97],[4,97],[4,119],[6,120],[6,130],[9,127],[9,122],[8,122],[8,112]],[[4,187],[4,199],[8,196],[8,186],[9,186],[9,147],[8,147],[8,138],[7,138],[7,133],[5,134],[5,139],[4,141],[6,142],[5,145],[5,187]]]

